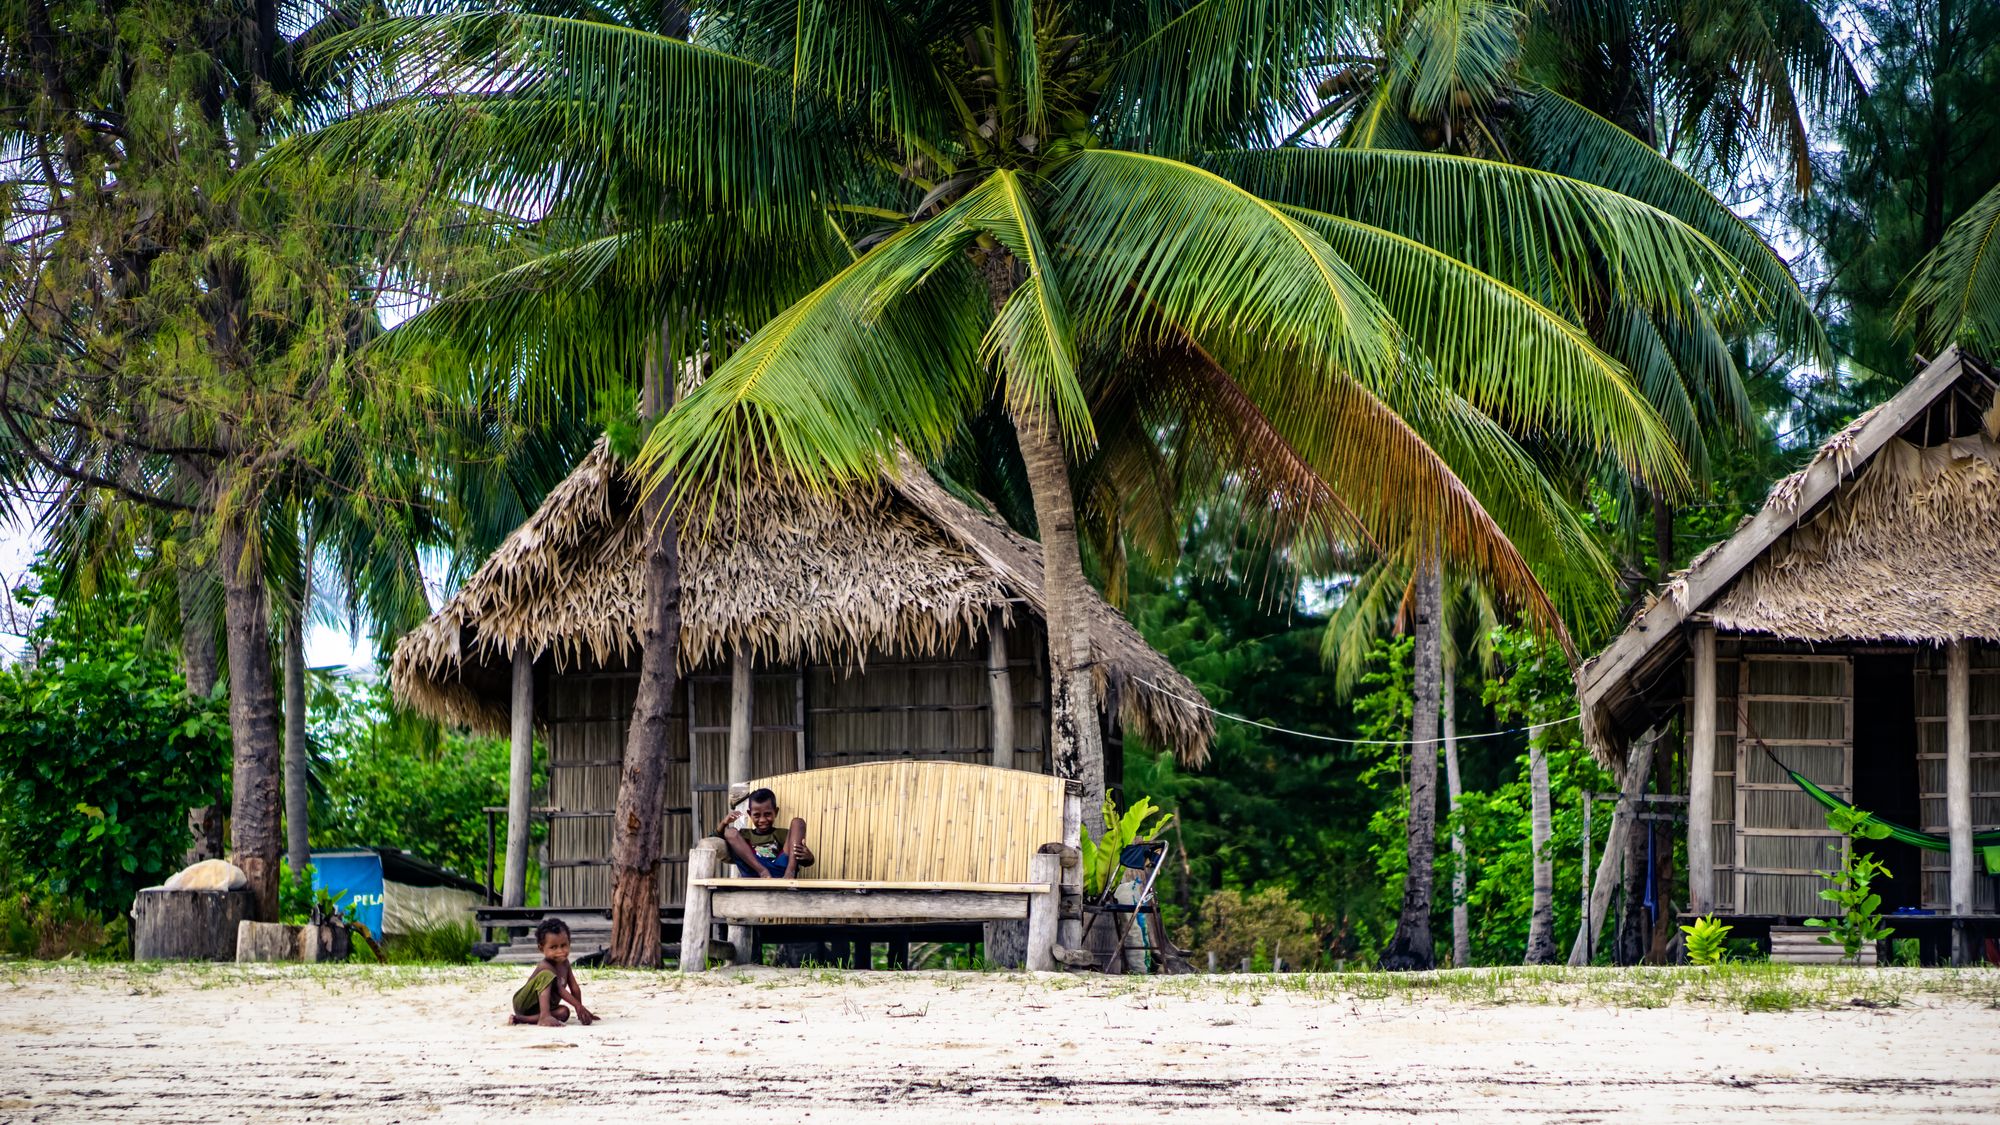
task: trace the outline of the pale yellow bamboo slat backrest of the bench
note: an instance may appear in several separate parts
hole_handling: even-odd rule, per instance
[[[808,879],[1022,883],[1028,857],[1062,843],[1066,783],[968,763],[866,763],[748,783],[806,819]]]

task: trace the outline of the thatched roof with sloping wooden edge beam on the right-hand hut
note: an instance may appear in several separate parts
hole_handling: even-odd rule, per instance
[[[1690,625],[1800,643],[2000,641],[1996,386],[1984,362],[1946,352],[1674,575],[1578,669],[1598,755],[1678,705]]]

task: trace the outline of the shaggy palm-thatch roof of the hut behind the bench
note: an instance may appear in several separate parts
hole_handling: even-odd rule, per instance
[[[504,731],[512,653],[558,671],[638,657],[642,520],[636,482],[606,442],[558,484],[430,621],[396,645],[404,705]],[[746,645],[768,663],[860,667],[872,653],[940,655],[988,617],[1042,615],[1042,548],[904,460],[878,486],[824,494],[746,476],[680,536],[680,667]],[[1126,731],[1208,757],[1200,693],[1102,599],[1090,599],[1098,701]]]

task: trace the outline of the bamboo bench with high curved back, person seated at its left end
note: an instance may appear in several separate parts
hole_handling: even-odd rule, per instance
[[[898,761],[748,781],[730,787],[730,801],[752,789],[778,795],[780,823],[806,819],[814,865],[798,879],[730,877],[722,839],[700,841],[688,855],[684,951],[706,949],[714,923],[1026,921],[1028,969],[1056,967],[1064,865],[1074,865],[1082,823],[1074,783]],[[682,957],[682,971],[706,967],[706,957]]]

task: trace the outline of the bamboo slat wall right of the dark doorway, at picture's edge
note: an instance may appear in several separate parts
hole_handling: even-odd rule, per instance
[[[2000,829],[2000,649],[1972,645],[1972,831]],[[1944,651],[1916,659],[1916,797],[1924,831],[1950,831],[1944,817]],[[1948,853],[1924,849],[1924,909],[1952,907]],[[1978,871],[1978,863],[1974,863]],[[1994,881],[1972,879],[1972,909],[1994,911]]]

